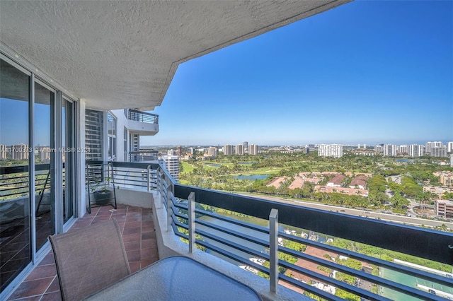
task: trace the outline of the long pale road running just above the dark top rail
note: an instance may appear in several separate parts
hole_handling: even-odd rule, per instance
[[[259,199],[267,199],[269,201],[277,201],[280,203],[289,203],[292,205],[297,205],[297,206],[302,206],[302,207],[316,208],[316,209],[320,209],[320,210],[324,210],[324,211],[333,211],[333,212],[338,212],[338,213],[343,213],[343,214],[349,214],[350,216],[380,218],[381,220],[386,220],[386,221],[390,221],[390,222],[394,222],[394,223],[406,223],[408,225],[415,225],[415,226],[426,225],[426,226],[430,226],[430,227],[435,227],[435,226],[441,226],[443,224],[443,225],[446,225],[447,228],[453,229],[453,223],[448,223],[448,222],[442,221],[442,220],[427,220],[427,219],[423,219],[423,218],[413,218],[413,217],[408,217],[408,216],[396,216],[395,214],[345,208],[345,207],[341,207],[341,206],[326,205],[323,203],[312,203],[309,201],[297,201],[297,200],[292,200],[292,199],[279,198],[277,196],[258,196],[258,195],[254,195],[254,194],[242,194],[242,193],[241,193],[241,195],[251,196],[251,197],[255,197],[255,198],[259,198]]]

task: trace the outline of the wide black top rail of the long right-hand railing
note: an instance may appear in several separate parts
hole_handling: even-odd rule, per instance
[[[280,223],[285,225],[453,264],[453,249],[448,247],[453,233],[175,184],[175,196],[187,199],[190,192],[195,193],[199,203],[262,219],[276,208]]]

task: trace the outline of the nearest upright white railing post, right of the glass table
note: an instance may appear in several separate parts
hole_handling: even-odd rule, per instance
[[[269,263],[270,291],[277,293],[278,286],[278,210],[272,209],[269,215]]]

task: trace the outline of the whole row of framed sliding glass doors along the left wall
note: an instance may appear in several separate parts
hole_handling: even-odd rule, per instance
[[[0,300],[5,300],[49,251],[47,236],[74,223],[77,102],[3,44],[0,67]]]

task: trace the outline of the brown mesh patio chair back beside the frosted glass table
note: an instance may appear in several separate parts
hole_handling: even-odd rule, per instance
[[[81,300],[130,274],[115,219],[49,236],[63,300]]]

